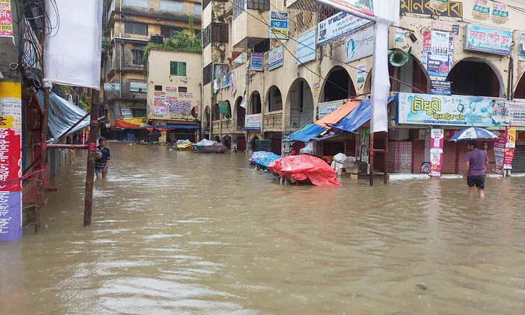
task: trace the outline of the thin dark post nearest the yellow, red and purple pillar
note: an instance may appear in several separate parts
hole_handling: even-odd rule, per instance
[[[40,167],[45,169],[45,165],[48,162],[48,149],[46,141],[48,141],[48,118],[49,118],[49,93],[51,88],[45,87],[44,89],[44,109],[43,109],[43,118],[42,118],[42,140],[41,140],[41,151],[40,151]],[[34,232],[38,232],[40,230],[40,224],[41,224],[41,214],[42,214],[42,207],[44,204],[44,197],[43,197],[43,179],[45,177],[45,172],[38,174],[38,188],[36,190],[37,192],[37,201],[36,201],[36,209],[34,212]]]

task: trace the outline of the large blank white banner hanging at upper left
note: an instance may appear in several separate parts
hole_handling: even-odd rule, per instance
[[[45,13],[46,26],[59,25],[45,36],[45,79],[99,90],[102,0],[45,0]]]

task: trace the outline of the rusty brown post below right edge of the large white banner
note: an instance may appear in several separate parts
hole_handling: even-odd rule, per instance
[[[94,156],[97,153],[99,134],[99,90],[91,90],[90,143],[87,145],[87,169],[85,172],[84,226],[91,224],[93,204]]]

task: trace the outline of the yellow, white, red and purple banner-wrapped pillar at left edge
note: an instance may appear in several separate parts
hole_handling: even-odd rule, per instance
[[[0,81],[0,241],[22,237],[22,83]]]

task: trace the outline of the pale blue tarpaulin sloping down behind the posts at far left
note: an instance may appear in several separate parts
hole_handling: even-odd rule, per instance
[[[44,92],[39,90],[36,92],[38,102],[43,109]],[[57,94],[50,92],[49,94],[49,119],[48,127],[51,136],[55,139],[62,136],[72,125],[75,125],[80,118],[83,118],[87,111],[80,109],[78,106],[67,102]],[[81,123],[76,125],[68,134],[82,130],[90,125],[90,116],[87,116]],[[64,136],[66,136],[65,134]]]

